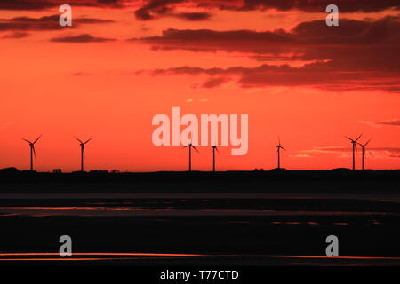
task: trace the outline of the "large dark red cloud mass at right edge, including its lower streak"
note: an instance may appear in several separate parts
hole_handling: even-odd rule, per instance
[[[228,69],[180,67],[154,70],[155,75],[236,76],[243,88],[292,85],[327,91],[400,91],[399,17],[375,21],[343,19],[340,25],[329,28],[324,21],[315,20],[300,23],[291,31],[168,29],[162,36],[140,41],[151,44],[153,50],[236,51],[254,59],[296,60],[304,64]]]

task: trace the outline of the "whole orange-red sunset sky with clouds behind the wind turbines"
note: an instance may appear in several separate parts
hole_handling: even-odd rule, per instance
[[[218,170],[351,166],[344,136],[372,138],[367,168],[400,164],[400,4],[389,0],[2,0],[0,168],[187,170],[156,147],[156,114],[249,114],[249,151]],[[59,25],[70,4],[73,26]],[[327,27],[327,4],[340,26]],[[193,170],[211,170],[199,146]],[[357,168],[361,158],[357,157]]]

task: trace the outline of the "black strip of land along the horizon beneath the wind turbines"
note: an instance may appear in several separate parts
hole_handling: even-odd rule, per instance
[[[399,182],[400,170],[0,170],[0,193],[400,193]]]

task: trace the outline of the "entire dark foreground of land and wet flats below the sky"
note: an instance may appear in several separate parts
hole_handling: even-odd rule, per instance
[[[75,252],[207,255],[113,264],[399,265],[400,258],[371,258],[400,257],[399,181],[400,170],[5,169],[0,251],[58,252],[60,235],[68,234]],[[275,257],[324,256],[331,234],[340,256],[366,258]]]

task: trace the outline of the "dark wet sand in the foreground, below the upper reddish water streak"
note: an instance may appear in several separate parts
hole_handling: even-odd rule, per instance
[[[57,252],[60,235],[76,252],[195,254],[207,257],[135,257],[119,264],[332,264],[324,258],[325,238],[340,239],[340,256],[398,257],[397,214],[215,214],[191,216],[80,216],[28,214],[0,216],[0,251]],[[230,257],[220,257],[228,255]],[[250,255],[250,256],[249,256]],[[273,257],[296,256],[296,257]],[[57,256],[56,256],[57,258]],[[102,256],[104,258],[104,256]],[[106,257],[107,258],[107,257]],[[113,257],[115,258],[115,257]],[[117,257],[118,258],[118,257]],[[116,263],[117,259],[102,261]],[[87,260],[92,261],[92,260]],[[334,264],[398,264],[397,259],[339,259]]]

